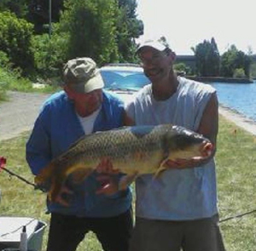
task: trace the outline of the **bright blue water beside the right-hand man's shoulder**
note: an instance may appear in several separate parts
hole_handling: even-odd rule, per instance
[[[219,104],[235,109],[256,122],[256,81],[253,83],[211,83]]]

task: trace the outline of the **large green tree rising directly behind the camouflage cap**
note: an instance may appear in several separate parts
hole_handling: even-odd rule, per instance
[[[99,65],[118,59],[114,0],[67,0],[61,31],[67,32],[67,58],[88,56]]]

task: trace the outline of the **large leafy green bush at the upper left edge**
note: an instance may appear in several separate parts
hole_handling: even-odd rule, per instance
[[[18,19],[8,11],[0,12],[0,50],[2,50],[15,68],[26,74],[32,70],[33,55],[31,39],[33,26],[26,20]]]

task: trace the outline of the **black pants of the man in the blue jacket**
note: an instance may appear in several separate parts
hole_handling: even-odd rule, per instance
[[[89,231],[96,234],[104,251],[128,251],[132,231],[131,210],[109,218],[51,214],[47,251],[75,251]]]

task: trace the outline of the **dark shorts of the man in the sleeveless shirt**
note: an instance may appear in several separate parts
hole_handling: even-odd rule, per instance
[[[130,251],[224,251],[218,215],[202,220],[136,219]]]

